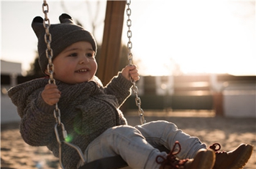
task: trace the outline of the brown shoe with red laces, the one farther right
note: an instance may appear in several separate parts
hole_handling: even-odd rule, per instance
[[[217,148],[219,147],[219,148]],[[210,146],[216,153],[214,169],[240,169],[249,160],[252,155],[252,145],[241,144],[236,149],[229,152],[219,152],[221,145],[214,143]]]

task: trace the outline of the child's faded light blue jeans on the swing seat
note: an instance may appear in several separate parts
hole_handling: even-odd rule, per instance
[[[91,142],[84,153],[86,162],[121,155],[131,168],[160,168],[157,155],[167,156],[157,148],[173,148],[175,141],[181,145],[177,158],[193,158],[206,145],[197,137],[191,137],[172,122],[154,121],[135,127],[121,125],[111,127]],[[82,165],[80,162],[78,164]]]

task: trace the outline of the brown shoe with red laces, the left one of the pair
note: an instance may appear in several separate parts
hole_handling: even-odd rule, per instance
[[[177,153],[173,153],[175,146],[179,147]],[[158,155],[155,159],[158,164],[161,164],[160,169],[211,169],[215,162],[215,153],[213,150],[201,149],[196,153],[196,157],[193,159],[178,160],[175,155],[180,153],[180,143],[175,142],[173,150],[170,151],[168,156],[164,158],[162,155]],[[161,160],[160,160],[161,159]]]

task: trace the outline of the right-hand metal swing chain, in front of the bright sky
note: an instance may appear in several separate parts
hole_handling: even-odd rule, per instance
[[[128,53],[128,61],[129,61],[129,65],[132,65],[132,42],[131,42],[131,38],[132,38],[132,31],[131,31],[131,26],[132,26],[132,20],[129,18],[129,16],[131,16],[132,14],[132,10],[130,9],[129,5],[131,4],[131,0],[127,1],[127,27],[128,27],[128,31],[127,31],[127,37],[128,37],[128,43],[127,43],[127,47],[129,49],[129,53]],[[140,100],[139,95],[139,90],[138,87],[136,86],[136,83],[134,81],[134,79],[131,78],[131,82],[132,82],[132,93],[135,95],[135,103],[138,107],[138,115],[140,116],[140,123],[143,125],[146,123],[145,117],[144,117],[144,111],[141,108],[142,102]]]

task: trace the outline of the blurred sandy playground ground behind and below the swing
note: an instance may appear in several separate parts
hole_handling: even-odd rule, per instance
[[[180,117],[182,116],[182,117]],[[134,113],[126,115],[129,125],[140,124]],[[256,118],[214,117],[198,112],[146,112],[147,122],[168,120],[189,135],[211,145],[220,143],[221,150],[233,150],[241,143],[256,145]],[[19,123],[1,125],[1,168],[59,168],[58,159],[45,147],[32,147],[24,143],[19,134]],[[244,168],[256,168],[256,148]]]

